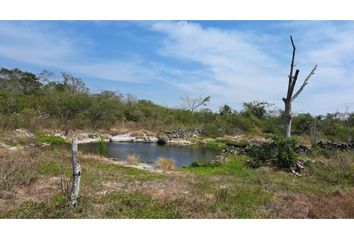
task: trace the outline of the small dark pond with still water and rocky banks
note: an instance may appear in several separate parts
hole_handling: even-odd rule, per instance
[[[98,143],[80,144],[85,152],[98,153]],[[137,154],[141,162],[153,164],[158,158],[175,161],[176,167],[188,166],[195,161],[212,160],[218,151],[206,146],[157,145],[147,143],[107,143],[106,156],[126,160],[129,155]]]

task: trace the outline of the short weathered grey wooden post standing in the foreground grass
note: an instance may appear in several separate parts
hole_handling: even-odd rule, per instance
[[[78,159],[76,137],[73,137],[72,139],[72,168],[73,168],[73,178],[72,178],[72,187],[71,187],[71,205],[75,207],[77,205],[77,199],[79,197],[80,175],[81,175],[81,167]]]

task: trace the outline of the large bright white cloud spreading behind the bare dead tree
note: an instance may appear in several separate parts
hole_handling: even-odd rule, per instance
[[[279,34],[290,29],[296,35],[296,64],[301,70],[297,86],[319,65],[295,101],[295,111],[324,113],[343,105],[354,107],[353,23],[292,22],[277,27]],[[190,82],[174,82],[181,89],[212,95],[217,105],[267,100],[283,107],[290,41],[277,46],[280,37],[275,34],[203,28],[190,22],[159,22],[152,29],[166,34],[160,54],[200,63],[200,69],[210,73],[207,80],[194,76]]]

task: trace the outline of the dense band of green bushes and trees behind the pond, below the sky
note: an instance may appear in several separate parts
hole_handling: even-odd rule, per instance
[[[102,91],[90,93],[84,81],[67,73],[55,77],[49,72],[35,75],[19,69],[0,69],[0,127],[3,130],[27,128],[110,129],[137,127],[151,130],[204,128],[211,137],[225,134],[281,135],[282,111],[269,111],[267,102],[244,103],[241,111],[225,105],[219,112],[201,108],[192,112],[156,105]],[[350,141],[354,135],[354,113],[316,116],[319,138]],[[298,114],[293,120],[295,135],[309,136],[314,116]]]

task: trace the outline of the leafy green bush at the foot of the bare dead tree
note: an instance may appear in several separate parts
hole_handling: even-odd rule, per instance
[[[297,162],[297,154],[294,150],[296,145],[296,139],[287,137],[273,137],[271,142],[260,146],[253,145],[249,152],[252,158],[249,164],[254,168],[272,165],[289,169]]]

